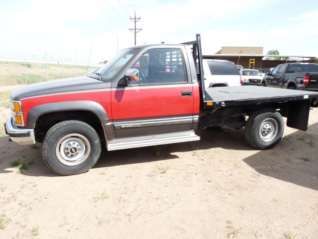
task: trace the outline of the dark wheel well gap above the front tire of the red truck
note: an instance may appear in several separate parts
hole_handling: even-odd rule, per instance
[[[41,115],[35,122],[35,140],[42,142],[47,131],[55,124],[66,120],[79,120],[92,126],[103,142],[104,130],[98,117],[90,111],[61,111]]]

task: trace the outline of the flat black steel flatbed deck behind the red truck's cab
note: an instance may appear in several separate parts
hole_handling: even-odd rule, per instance
[[[211,87],[204,90],[204,108],[283,103],[318,98],[318,92],[260,86]],[[212,104],[211,104],[212,103]]]

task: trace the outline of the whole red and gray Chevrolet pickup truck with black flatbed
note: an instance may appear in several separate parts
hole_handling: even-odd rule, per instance
[[[198,69],[196,69],[195,62]],[[182,44],[120,51],[89,77],[24,86],[11,93],[10,140],[42,143],[60,175],[88,171],[107,150],[199,140],[209,126],[244,128],[257,149],[274,147],[287,126],[307,130],[318,93],[258,86],[205,88],[200,35]]]

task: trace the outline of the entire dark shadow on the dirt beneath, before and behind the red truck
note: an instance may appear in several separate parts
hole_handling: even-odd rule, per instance
[[[305,140],[297,135],[305,134]],[[258,173],[303,187],[318,190],[318,147],[311,147],[309,141],[318,138],[318,123],[309,126],[307,132],[296,131],[282,138],[273,149],[259,151],[250,147],[245,139],[243,129],[224,127],[198,131],[200,141],[141,147],[125,150],[102,151],[101,157],[93,168],[114,167],[125,164],[147,163],[178,158],[177,152],[189,152],[211,148],[255,151],[243,161]],[[21,146],[8,142],[8,137],[0,137],[0,174],[11,173],[16,169],[10,163],[14,160],[32,162],[22,172],[26,176],[56,177],[44,164],[41,144],[38,148]],[[301,150],[300,150],[301,148]],[[226,152],[225,152],[226,153]],[[191,160],[191,155],[189,155]],[[309,161],[308,161],[309,160]]]

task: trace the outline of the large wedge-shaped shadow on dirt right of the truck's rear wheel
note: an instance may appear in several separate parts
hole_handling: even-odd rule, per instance
[[[318,190],[318,123],[307,132],[296,131],[282,138],[273,149],[243,159],[258,173]]]

